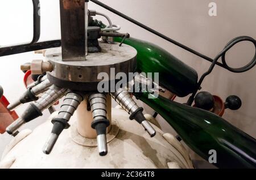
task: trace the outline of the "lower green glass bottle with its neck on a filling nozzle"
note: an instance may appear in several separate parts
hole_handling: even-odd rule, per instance
[[[170,101],[150,93],[135,93],[175,129],[198,155],[209,160],[216,151],[218,168],[256,168],[256,140],[225,119],[208,111]]]

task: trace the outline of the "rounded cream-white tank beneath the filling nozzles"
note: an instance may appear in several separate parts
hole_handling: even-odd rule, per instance
[[[6,147],[0,168],[193,168],[188,152],[171,134],[159,127],[154,138],[123,109],[112,109],[112,127],[107,135],[108,155],[99,156],[96,139],[77,131],[76,115],[64,130],[50,155],[42,151],[52,129],[53,113],[34,131],[20,132]],[[156,122],[151,115],[148,121]]]

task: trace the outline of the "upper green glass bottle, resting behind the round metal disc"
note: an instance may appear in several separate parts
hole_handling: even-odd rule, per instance
[[[115,38],[115,41],[121,42],[122,38]],[[197,72],[166,50],[137,38],[126,38],[124,43],[138,52],[137,71],[158,72],[159,84],[175,95],[184,97],[197,88]]]

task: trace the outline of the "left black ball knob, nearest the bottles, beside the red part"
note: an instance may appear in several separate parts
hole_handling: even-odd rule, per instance
[[[214,98],[209,92],[199,92],[195,97],[195,105],[197,108],[210,110],[214,106]]]

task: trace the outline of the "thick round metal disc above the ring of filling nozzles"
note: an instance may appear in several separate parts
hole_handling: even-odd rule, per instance
[[[46,51],[46,59],[52,63],[53,71],[48,72],[49,80],[77,83],[100,82],[98,74],[105,72],[109,80],[115,80],[118,72],[135,71],[137,50],[129,45],[107,44],[100,42],[102,51],[100,53],[90,53],[86,56],[86,61],[62,61],[61,48],[52,48]],[[114,76],[110,74],[110,68],[114,68]],[[110,76],[112,75],[112,76]],[[56,84],[58,85],[58,84]]]

